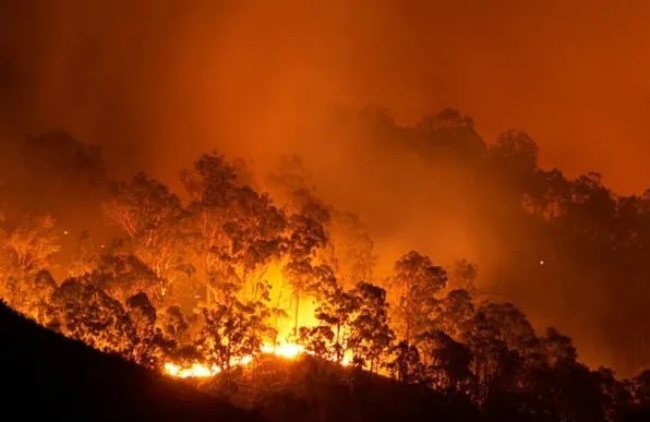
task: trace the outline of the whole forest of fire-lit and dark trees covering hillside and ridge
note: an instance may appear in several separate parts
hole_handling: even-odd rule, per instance
[[[588,366],[556,327],[533,327],[480,282],[479,263],[405,250],[378,269],[386,257],[363,219],[325,201],[298,156],[260,174],[206,152],[177,192],[144,172],[115,178],[99,148],[64,132],[7,143],[0,298],[219,395],[245,390],[248,371],[275,354],[321,362],[316,375],[332,365],[465,400],[486,420],[619,421],[650,406],[650,192],[622,196],[599,173],[543,169],[527,133],[488,144],[453,109],[409,126],[376,109],[354,119],[383,154],[454,168],[445,183],[460,193],[432,213],[481,215],[511,256],[504,282],[542,279],[570,313],[590,305],[590,280],[611,304],[591,324],[616,346],[617,372]]]

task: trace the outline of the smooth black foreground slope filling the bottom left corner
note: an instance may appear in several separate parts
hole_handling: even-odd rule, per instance
[[[261,421],[190,386],[63,338],[0,303],[8,420]]]

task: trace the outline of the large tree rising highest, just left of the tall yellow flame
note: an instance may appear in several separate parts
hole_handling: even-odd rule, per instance
[[[222,156],[200,157],[182,173],[192,202],[189,210],[203,261],[208,306],[220,290],[237,289],[279,255],[285,218],[266,194],[242,184],[236,167]],[[254,298],[251,298],[254,300]]]

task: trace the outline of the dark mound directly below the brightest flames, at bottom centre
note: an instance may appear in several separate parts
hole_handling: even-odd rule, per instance
[[[268,357],[236,371],[228,381],[216,377],[197,384],[273,422],[483,421],[465,396],[437,394],[311,357]]]

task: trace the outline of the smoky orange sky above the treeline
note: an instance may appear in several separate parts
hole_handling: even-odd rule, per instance
[[[19,132],[65,128],[161,169],[215,146],[317,148],[333,104],[405,122],[453,106],[489,140],[529,131],[544,165],[650,185],[645,0],[33,4],[0,3],[0,111]]]

